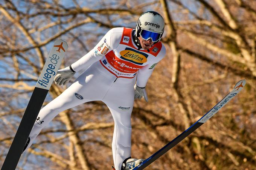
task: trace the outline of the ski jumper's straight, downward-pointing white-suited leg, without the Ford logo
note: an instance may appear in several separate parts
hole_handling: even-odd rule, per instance
[[[120,84],[119,84],[120,85]],[[102,100],[107,104],[114,119],[112,152],[116,170],[120,170],[124,159],[131,156],[131,112],[133,110],[133,85],[116,86]]]

